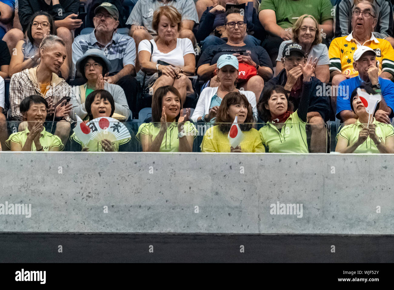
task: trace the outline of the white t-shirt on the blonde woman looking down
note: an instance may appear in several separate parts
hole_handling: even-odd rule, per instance
[[[168,53],[163,53],[159,51],[153,39],[152,40],[144,39],[138,45],[138,53],[140,51],[151,52],[151,43],[149,43],[149,41],[153,44],[153,53],[152,53],[151,62],[155,64],[157,64],[158,60],[161,60],[163,62],[167,62],[174,66],[184,66],[185,62],[183,56],[189,53],[195,54],[193,44],[188,38],[177,38],[177,47],[175,47],[175,49],[173,49]]]

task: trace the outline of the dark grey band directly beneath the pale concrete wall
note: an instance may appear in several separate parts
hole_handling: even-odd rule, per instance
[[[0,233],[2,263],[390,263],[394,236]]]

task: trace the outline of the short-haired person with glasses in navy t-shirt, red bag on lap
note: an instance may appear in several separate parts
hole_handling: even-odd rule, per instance
[[[238,82],[237,87],[252,91],[258,99],[263,90],[264,81],[268,81],[273,76],[269,56],[262,47],[248,46],[243,42],[246,35],[246,22],[239,9],[231,8],[226,11],[225,23],[227,43],[212,45],[204,50],[197,65],[197,74],[202,80],[210,80],[210,87],[217,87],[218,83],[213,77],[217,59],[222,54],[231,53],[238,58],[238,62],[242,63],[245,69],[254,71],[254,73],[251,72],[253,76],[247,76],[249,78],[246,81]],[[255,75],[256,71],[257,75]]]

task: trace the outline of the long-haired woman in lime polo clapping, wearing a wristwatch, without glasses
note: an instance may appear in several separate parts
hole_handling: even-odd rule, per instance
[[[190,111],[186,116],[181,114],[178,90],[173,86],[162,86],[156,90],[152,100],[152,122],[139,126],[136,135],[142,151],[191,152],[197,130],[187,121]]]

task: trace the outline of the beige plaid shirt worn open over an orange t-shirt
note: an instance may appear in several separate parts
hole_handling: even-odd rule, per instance
[[[35,80],[37,78],[30,75],[30,73],[35,71],[37,71],[37,68],[24,69],[19,73],[15,73],[11,77],[11,81],[9,83],[9,103],[11,107],[11,115],[14,119],[20,121],[23,120],[23,116],[19,111],[19,105],[22,100],[29,95],[41,95],[46,101],[51,97],[54,104],[60,101],[62,97],[70,96],[71,98],[75,98],[71,86],[69,86],[64,79],[61,79],[55,73],[52,73],[50,88],[44,96],[41,93],[38,82]],[[52,118],[50,118],[50,120],[48,119],[48,121],[52,121]],[[71,118],[66,116],[65,120],[71,121]]]

